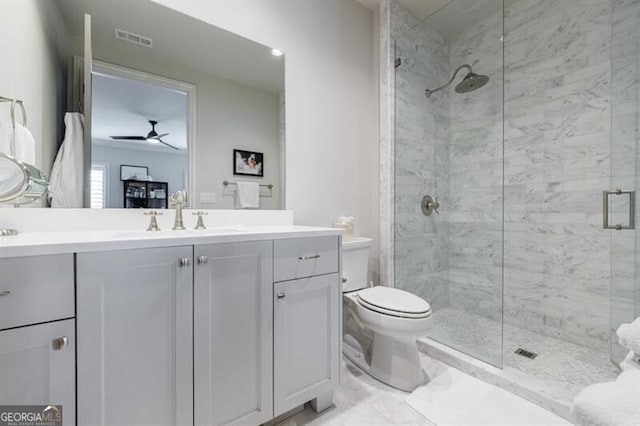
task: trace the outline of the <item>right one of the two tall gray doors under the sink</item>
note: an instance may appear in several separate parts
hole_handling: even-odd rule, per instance
[[[272,242],[195,247],[197,425],[273,417]]]

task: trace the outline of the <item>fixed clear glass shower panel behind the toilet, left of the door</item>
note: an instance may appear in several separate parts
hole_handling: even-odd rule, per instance
[[[501,0],[455,0],[395,39],[395,287],[431,304],[428,337],[496,366],[502,365],[502,33]],[[423,214],[426,195],[438,197],[439,212]]]

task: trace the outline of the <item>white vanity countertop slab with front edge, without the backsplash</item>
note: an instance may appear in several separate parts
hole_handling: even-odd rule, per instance
[[[27,232],[0,237],[0,258],[341,235],[313,226],[227,226],[184,231]]]

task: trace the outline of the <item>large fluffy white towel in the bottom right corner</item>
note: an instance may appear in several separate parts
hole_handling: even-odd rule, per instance
[[[573,400],[571,414],[583,426],[637,426],[640,370],[625,371],[615,382],[587,386]]]

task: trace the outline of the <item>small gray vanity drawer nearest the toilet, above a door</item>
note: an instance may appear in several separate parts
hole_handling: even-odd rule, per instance
[[[274,281],[338,272],[338,237],[275,240],[273,258]]]

